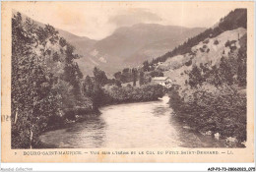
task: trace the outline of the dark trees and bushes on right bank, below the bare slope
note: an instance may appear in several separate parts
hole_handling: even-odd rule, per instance
[[[234,41],[227,41],[231,46]],[[186,89],[170,91],[170,107],[176,116],[200,132],[246,141],[246,34],[240,48],[222,57],[220,65],[200,64],[188,74]]]

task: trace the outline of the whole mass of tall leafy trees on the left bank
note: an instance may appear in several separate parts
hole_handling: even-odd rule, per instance
[[[62,50],[62,53],[60,52]],[[12,18],[12,147],[30,148],[37,137],[81,101],[83,78],[74,47],[58,31]]]

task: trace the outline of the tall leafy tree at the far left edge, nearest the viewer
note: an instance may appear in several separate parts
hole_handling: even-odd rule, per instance
[[[36,25],[17,13],[12,18],[12,147],[32,148],[50,116],[59,113],[53,74],[48,69],[45,42],[56,32],[42,29],[41,42]],[[52,40],[53,41],[53,40]],[[38,44],[41,54],[34,51]]]

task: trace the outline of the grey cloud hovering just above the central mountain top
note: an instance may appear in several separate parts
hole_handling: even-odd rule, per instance
[[[117,14],[111,16],[108,20],[110,24],[117,27],[132,26],[139,23],[156,23],[160,21],[161,18],[157,14],[142,8],[118,11]]]

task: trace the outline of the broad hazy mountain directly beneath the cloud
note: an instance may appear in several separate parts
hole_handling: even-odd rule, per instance
[[[116,29],[111,35],[97,41],[94,50],[99,56],[107,57],[107,61],[120,60],[126,65],[139,65],[203,30],[137,24]]]

